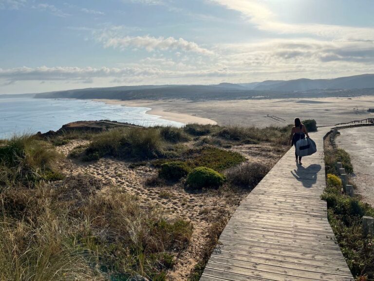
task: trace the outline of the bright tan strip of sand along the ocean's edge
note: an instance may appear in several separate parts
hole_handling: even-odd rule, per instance
[[[211,120],[208,118],[198,117],[186,113],[177,113],[167,111],[167,108],[163,106],[161,103],[157,102],[156,100],[109,100],[109,99],[93,99],[93,101],[104,102],[106,104],[119,104],[122,106],[129,106],[129,107],[147,107],[150,108],[146,111],[146,114],[158,116],[161,119],[169,120],[169,121],[176,121],[184,124],[191,124],[191,123],[198,123],[201,125],[216,125],[217,122],[215,120]],[[165,100],[163,101],[165,102]]]

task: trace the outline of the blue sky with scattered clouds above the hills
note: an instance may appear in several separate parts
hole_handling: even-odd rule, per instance
[[[374,0],[0,0],[0,94],[374,73]]]

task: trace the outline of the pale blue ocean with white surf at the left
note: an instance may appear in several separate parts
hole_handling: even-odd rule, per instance
[[[0,139],[14,134],[56,131],[62,125],[82,120],[112,120],[136,125],[184,124],[149,115],[147,107],[127,107],[93,100],[0,99]]]

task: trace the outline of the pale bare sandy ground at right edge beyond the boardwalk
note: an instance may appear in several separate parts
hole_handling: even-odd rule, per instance
[[[374,206],[374,127],[343,129],[340,134],[337,145],[351,156],[356,192]]]

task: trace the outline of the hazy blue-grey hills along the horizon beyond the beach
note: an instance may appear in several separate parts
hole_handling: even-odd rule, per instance
[[[36,94],[36,98],[112,100],[233,100],[252,98],[320,98],[374,95],[374,74],[336,79],[266,80],[217,85],[142,85],[87,88]],[[14,96],[13,96],[14,97]]]

